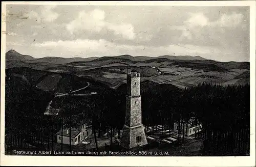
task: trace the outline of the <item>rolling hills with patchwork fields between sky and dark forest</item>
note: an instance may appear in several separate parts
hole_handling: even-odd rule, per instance
[[[10,52],[19,55],[14,50],[7,54],[9,55]],[[141,73],[141,81],[170,84],[180,89],[197,86],[203,82],[225,86],[249,83],[249,62],[218,62],[188,55],[163,55],[157,58],[133,57],[128,54],[88,59],[46,57],[20,60],[19,58],[20,56],[17,60],[7,60],[6,69],[25,67],[54,72],[56,75],[53,77],[56,78],[65,74],[81,78],[89,77],[114,89],[126,82],[126,73],[132,69]],[[54,84],[50,90],[54,90]]]

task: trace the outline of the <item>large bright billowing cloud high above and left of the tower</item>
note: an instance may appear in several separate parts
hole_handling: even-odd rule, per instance
[[[91,12],[80,11],[78,17],[67,24],[67,30],[72,34],[87,30],[99,33],[103,29],[113,31],[115,35],[121,35],[125,39],[133,40],[136,34],[134,26],[130,23],[115,24],[105,20],[105,12],[95,9]]]

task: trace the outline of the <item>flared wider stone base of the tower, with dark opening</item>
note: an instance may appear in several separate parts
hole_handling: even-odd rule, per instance
[[[123,125],[120,145],[125,149],[132,149],[138,146],[146,145],[146,135],[143,125],[129,127]]]

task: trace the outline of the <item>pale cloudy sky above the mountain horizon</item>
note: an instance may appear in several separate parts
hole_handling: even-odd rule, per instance
[[[6,50],[34,58],[249,61],[249,7],[7,5]]]

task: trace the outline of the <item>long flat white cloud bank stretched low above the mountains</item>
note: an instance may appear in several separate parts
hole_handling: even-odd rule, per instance
[[[47,41],[42,43],[33,44],[37,49],[44,50],[61,50],[62,54],[70,55],[77,54],[81,57],[83,55],[95,56],[95,55],[119,55],[119,54],[131,54],[131,55],[148,55],[156,56],[163,54],[176,55],[204,55],[221,52],[217,48],[211,47],[199,47],[194,45],[182,45],[182,44],[168,44],[165,46],[150,47],[144,45],[125,45],[117,44],[114,42],[90,39],[77,39],[66,41]]]

